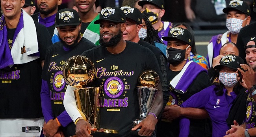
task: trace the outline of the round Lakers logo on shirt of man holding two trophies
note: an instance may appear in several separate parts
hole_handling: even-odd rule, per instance
[[[117,98],[121,96],[124,90],[124,84],[121,79],[117,77],[108,78],[104,83],[104,91],[107,96]]]

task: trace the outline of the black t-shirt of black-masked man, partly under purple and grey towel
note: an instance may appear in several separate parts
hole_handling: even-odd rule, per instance
[[[181,71],[172,71],[167,68],[167,81],[170,83],[171,80],[180,73]],[[180,106],[184,101],[186,101],[193,94],[200,92],[206,87],[211,86],[211,81],[206,72],[201,72],[198,74],[197,78],[188,87],[187,92],[184,94],[179,94],[175,92],[174,89],[169,84],[169,101],[168,105],[178,105]],[[205,126],[206,119],[190,119],[190,132],[191,137],[206,137]],[[211,128],[210,128],[211,129]],[[169,121],[166,119],[161,119],[158,122],[157,136],[160,137],[178,137],[180,133],[179,120],[175,119]],[[211,133],[210,133],[211,135]]]

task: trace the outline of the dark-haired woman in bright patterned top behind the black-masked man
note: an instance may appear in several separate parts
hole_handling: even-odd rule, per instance
[[[197,54],[193,29],[187,23],[177,23],[173,27],[181,27],[183,29],[187,29],[192,34],[192,38],[193,38],[192,43],[193,44],[191,45],[191,52],[190,52],[190,56],[188,59],[193,60],[195,63],[199,64],[200,66],[202,66],[203,68],[208,70],[207,59],[204,58],[204,56]]]

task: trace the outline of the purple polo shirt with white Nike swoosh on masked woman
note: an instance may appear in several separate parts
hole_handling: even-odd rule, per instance
[[[235,92],[231,92],[231,96],[228,96],[226,95],[226,89],[224,89],[224,94],[217,96],[215,94],[216,90],[214,90],[215,87],[215,85],[212,85],[194,94],[182,103],[181,107],[204,108],[211,118],[212,136],[223,137],[226,135],[226,131],[229,130],[226,119],[237,95]],[[187,120],[186,118],[181,119],[180,133],[189,133],[189,121]]]

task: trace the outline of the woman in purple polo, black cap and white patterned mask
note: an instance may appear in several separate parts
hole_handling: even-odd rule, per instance
[[[243,122],[246,114],[246,89],[243,88],[236,79],[236,71],[243,59],[239,56],[225,55],[221,58],[220,65],[214,68],[219,71],[220,85],[212,85],[202,91],[189,97],[181,107],[173,107],[172,116],[163,112],[163,117],[174,119],[179,116],[185,116],[180,119],[180,137],[185,137],[189,133],[189,118],[204,117],[197,113],[204,108],[212,122],[212,136],[223,137],[234,120]],[[196,117],[195,117],[196,115]]]

